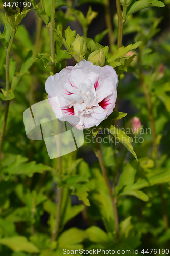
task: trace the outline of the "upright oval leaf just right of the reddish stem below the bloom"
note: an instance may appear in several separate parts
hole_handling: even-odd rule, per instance
[[[119,179],[119,189],[122,189],[124,186],[131,186],[134,184],[135,181],[135,174],[136,174],[136,170],[132,167],[132,165],[130,163],[128,163],[122,174],[120,175],[120,179]]]

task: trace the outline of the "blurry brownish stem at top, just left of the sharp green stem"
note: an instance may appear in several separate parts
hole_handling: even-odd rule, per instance
[[[109,0],[107,0],[105,3],[105,21],[106,21],[106,27],[107,29],[109,29],[108,38],[109,38],[109,49],[111,51],[111,46],[114,44],[114,37],[113,37]]]

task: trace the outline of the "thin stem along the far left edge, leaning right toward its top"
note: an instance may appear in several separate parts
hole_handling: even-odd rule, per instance
[[[7,92],[7,96],[8,96],[8,90],[10,89],[10,84],[9,84],[9,59],[10,59],[10,53],[11,53],[11,48],[12,48],[12,44],[13,44],[13,41],[14,41],[15,33],[16,33],[16,31],[12,29],[12,34],[11,34],[9,46],[6,50],[6,92]],[[10,100],[6,101],[4,120],[3,120],[3,124],[2,124],[1,135],[0,135],[0,160],[1,160],[1,150],[2,150],[2,143],[3,143],[4,133],[5,133],[5,127],[6,127],[7,118],[8,118],[9,104],[10,104]]]

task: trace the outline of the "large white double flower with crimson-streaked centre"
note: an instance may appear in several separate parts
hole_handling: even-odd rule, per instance
[[[71,123],[70,117],[79,117],[76,127],[82,129],[98,126],[113,112],[117,85],[113,67],[95,66],[83,59],[48,77],[45,89],[56,118]]]

